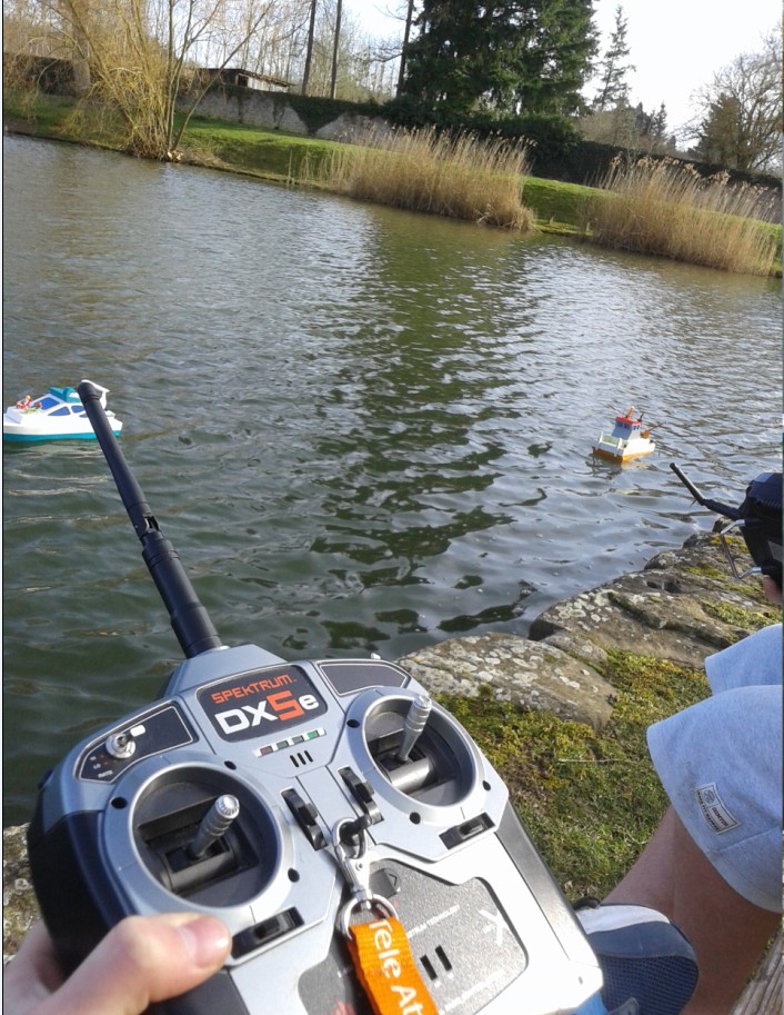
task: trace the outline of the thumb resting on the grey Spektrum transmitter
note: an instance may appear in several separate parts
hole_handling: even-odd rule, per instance
[[[209,979],[230,946],[229,932],[211,916],[129,916],[36,1015],[141,1015]]]

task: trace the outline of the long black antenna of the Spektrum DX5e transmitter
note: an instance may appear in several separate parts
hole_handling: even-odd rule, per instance
[[[100,392],[89,380],[83,380],[77,387],[77,392],[96,431],[128,517],[141,540],[144,564],[169,610],[171,626],[183,653],[191,658],[211,648],[220,648],[221,639],[207,610],[199,601],[174,547],[159,529],[144,494],[120,450],[101,405]]]

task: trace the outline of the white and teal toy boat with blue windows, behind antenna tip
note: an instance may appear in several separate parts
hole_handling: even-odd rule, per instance
[[[107,409],[109,388],[103,388],[92,381],[90,384],[101,392],[101,405]],[[114,435],[118,436],[122,429],[122,422],[109,409],[107,409],[107,416]],[[3,440],[62,438],[96,439],[96,431],[87,418],[76,388],[50,388],[40,398],[26,395],[3,412]]]

